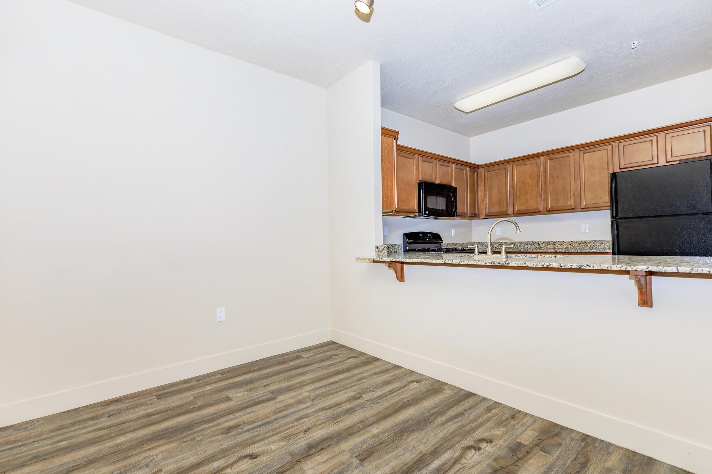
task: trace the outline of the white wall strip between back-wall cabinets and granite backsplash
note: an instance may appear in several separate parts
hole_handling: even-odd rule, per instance
[[[473,242],[485,242],[487,232],[496,219],[473,220]],[[570,212],[565,214],[530,215],[513,217],[522,229],[520,234],[508,222],[498,225],[501,236],[494,235],[493,241],[530,242],[543,240],[610,240],[611,214],[607,210],[590,212]],[[587,232],[581,232],[582,225]]]

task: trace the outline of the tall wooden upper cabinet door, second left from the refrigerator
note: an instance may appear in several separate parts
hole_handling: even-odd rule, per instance
[[[548,211],[575,209],[575,181],[573,151],[545,156],[545,209]]]

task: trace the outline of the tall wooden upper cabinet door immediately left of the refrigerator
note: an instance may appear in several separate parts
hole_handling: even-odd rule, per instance
[[[608,208],[613,145],[593,146],[578,151],[581,209]]]

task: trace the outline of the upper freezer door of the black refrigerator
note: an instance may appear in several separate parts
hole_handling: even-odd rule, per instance
[[[612,215],[618,218],[712,212],[711,161],[619,171],[611,192]]]

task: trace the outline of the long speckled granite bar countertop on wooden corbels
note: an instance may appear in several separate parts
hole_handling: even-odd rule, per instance
[[[405,262],[444,265],[531,266],[562,269],[664,271],[712,274],[712,257],[636,257],[630,255],[522,255],[507,259],[474,254],[407,252],[382,257],[357,257],[373,262]]]

